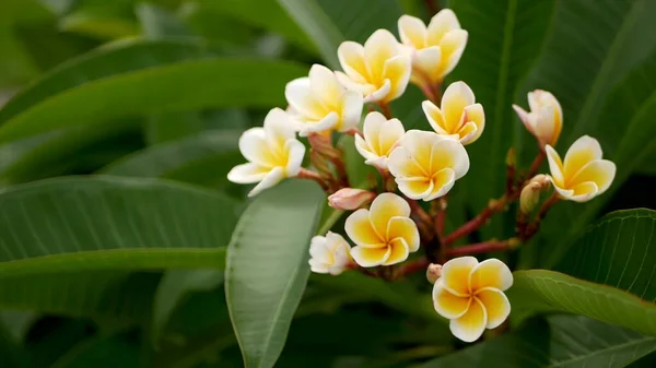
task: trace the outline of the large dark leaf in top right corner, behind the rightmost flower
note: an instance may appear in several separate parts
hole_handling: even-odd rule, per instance
[[[518,98],[526,105],[526,91],[551,91],[564,114],[557,146],[561,155],[581,135],[590,134],[618,173],[609,192],[585,206],[559,204],[531,246],[538,249],[523,254],[523,265],[555,265],[610,193],[647,159],[646,147],[656,133],[651,119],[656,111],[656,43],[644,35],[656,32],[649,16],[655,11],[656,3],[648,0],[559,1],[551,36]],[[526,164],[535,149],[525,149],[518,157]],[[527,253],[535,253],[534,259]]]

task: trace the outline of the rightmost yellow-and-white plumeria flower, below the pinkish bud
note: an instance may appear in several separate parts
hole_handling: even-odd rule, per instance
[[[551,145],[547,145],[551,182],[561,198],[586,202],[604,193],[616,174],[616,165],[601,159],[601,146],[596,139],[583,135],[572,144],[564,163]]]

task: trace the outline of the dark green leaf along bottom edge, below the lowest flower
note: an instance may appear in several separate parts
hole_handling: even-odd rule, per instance
[[[553,316],[421,367],[622,368],[655,349],[656,337],[583,317]]]

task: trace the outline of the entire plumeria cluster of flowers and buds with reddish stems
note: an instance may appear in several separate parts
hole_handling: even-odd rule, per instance
[[[285,178],[317,181],[330,206],[353,212],[343,232],[333,229],[312,239],[312,271],[338,275],[356,270],[396,280],[425,270],[434,283],[435,311],[450,320],[456,337],[472,342],[507,319],[511,305],[504,292],[512,286],[513,274],[496,259],[479,262],[471,256],[517,248],[535,234],[557,201],[584,202],[606,191],[616,166],[601,158],[599,143],[587,135],[561,159],[553,149],[563,126],[561,106],[552,94],[534,91],[528,94],[530,111],[513,105],[538,142],[539,154],[530,169],[517,174],[511,151],[505,192],[469,222],[444,234],[447,193],[470,166],[465,146],[479,140],[485,128],[483,106],[465,82],[455,82],[442,93],[443,80],[458,63],[468,34],[448,9],[427,26],[408,15],[399,19],[398,26],[400,41],[378,29],[364,45],[342,43],[337,52],[343,72],[315,64],[307,78],[291,81],[284,92],[289,107],[272,109],[263,128],[243,134],[239,150],[248,163],[234,167],[229,179],[257,183],[249,195]],[[433,131],[407,131],[391,116],[389,102],[401,96],[409,83],[424,92],[421,106]],[[365,104],[370,112],[361,123]],[[380,174],[380,186],[350,188],[342,152],[333,145],[336,133],[354,135],[364,163]],[[302,167],[305,146],[297,135],[309,142],[311,168]],[[544,158],[550,174],[537,175]],[[551,188],[553,193],[535,213],[540,193]],[[515,237],[453,247],[516,200]],[[422,202],[430,202],[430,210]],[[412,256],[420,248],[425,256]]]

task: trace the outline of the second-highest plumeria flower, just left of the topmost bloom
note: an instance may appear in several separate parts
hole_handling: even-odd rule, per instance
[[[343,41],[337,49],[344,73],[336,72],[349,90],[365,103],[389,103],[406,91],[412,66],[401,45],[387,29],[378,29],[364,43]]]

